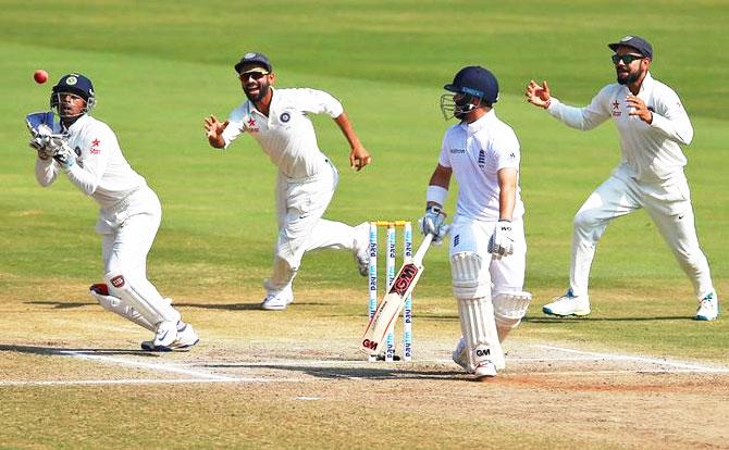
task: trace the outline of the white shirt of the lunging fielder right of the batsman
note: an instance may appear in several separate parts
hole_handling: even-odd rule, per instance
[[[683,176],[687,159],[679,143],[691,143],[693,127],[678,95],[647,73],[638,92],[653,112],[653,122],[646,124],[635,115],[628,115],[629,93],[627,86],[615,83],[605,86],[585,108],[569,107],[553,97],[547,111],[582,130],[613,117],[620,134],[621,164],[639,182],[660,183]]]

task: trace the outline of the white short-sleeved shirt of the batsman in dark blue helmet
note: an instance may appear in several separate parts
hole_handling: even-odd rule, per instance
[[[496,117],[494,110],[478,121],[452,126],[443,136],[438,164],[450,167],[458,182],[456,214],[472,220],[499,218],[497,173],[517,170],[514,218],[524,214],[519,187],[519,140],[510,126]]]

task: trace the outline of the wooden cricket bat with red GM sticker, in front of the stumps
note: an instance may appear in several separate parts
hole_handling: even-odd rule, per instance
[[[420,275],[422,275],[424,268],[422,265],[423,257],[425,257],[425,252],[432,240],[433,235],[425,236],[415,257],[412,257],[412,261],[403,264],[403,267],[400,267],[393,284],[390,286],[390,290],[380,302],[380,305],[378,305],[378,310],[367,325],[360,345],[360,349],[363,352],[370,355],[380,353],[382,349],[380,345],[384,342],[387,329],[397,320],[405,304],[405,299],[412,293]]]

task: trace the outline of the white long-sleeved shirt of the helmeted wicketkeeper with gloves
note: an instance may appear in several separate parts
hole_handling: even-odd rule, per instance
[[[111,208],[147,185],[126,162],[116,135],[106,123],[84,114],[69,129],[54,124],[53,133],[67,133],[69,146],[77,155],[67,172],[69,179],[101,208]],[[36,161],[36,179],[41,186],[53,183],[61,167],[53,159]]]

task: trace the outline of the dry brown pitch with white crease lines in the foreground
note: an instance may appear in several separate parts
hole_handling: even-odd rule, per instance
[[[197,348],[145,353],[146,334],[90,301],[5,303],[0,447],[729,448],[716,362],[536,342],[526,326],[507,370],[474,383],[448,359],[455,321],[416,322],[411,363],[368,363],[361,317],[199,307],[181,304]]]

